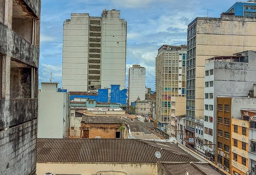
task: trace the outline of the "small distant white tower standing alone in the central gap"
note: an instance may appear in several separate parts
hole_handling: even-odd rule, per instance
[[[140,98],[140,100],[145,100],[145,85],[146,68],[143,68],[140,65],[133,65],[132,68],[129,68],[129,105],[131,105],[131,102],[135,102],[138,97]]]

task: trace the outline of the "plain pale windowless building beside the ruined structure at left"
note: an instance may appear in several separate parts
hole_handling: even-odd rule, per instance
[[[41,88],[44,86],[42,83]],[[37,137],[63,138],[64,127],[69,123],[69,93],[39,92]]]

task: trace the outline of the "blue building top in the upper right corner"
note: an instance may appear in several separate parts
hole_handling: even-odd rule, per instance
[[[235,13],[235,16],[255,16],[256,3],[254,1],[236,2],[226,12]]]

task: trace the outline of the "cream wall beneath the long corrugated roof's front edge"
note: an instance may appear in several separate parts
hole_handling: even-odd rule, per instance
[[[157,164],[117,164],[117,163],[36,163],[36,174],[43,175],[45,172],[53,172],[54,174],[96,174],[97,171],[111,170],[101,172],[103,174],[116,175],[157,175]],[[118,172],[119,171],[119,172]],[[97,174],[99,174],[98,172]]]

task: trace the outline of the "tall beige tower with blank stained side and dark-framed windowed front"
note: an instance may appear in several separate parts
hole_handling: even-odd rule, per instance
[[[256,18],[252,17],[221,15],[220,18],[198,17],[188,25],[186,94],[188,138],[195,137],[196,124],[202,128],[204,121],[205,59],[255,49],[255,22]],[[187,144],[194,147],[195,142]]]

